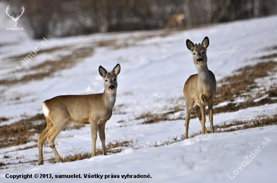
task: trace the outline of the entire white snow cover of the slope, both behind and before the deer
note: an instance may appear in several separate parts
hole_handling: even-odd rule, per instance
[[[24,25],[23,25],[24,26]],[[7,31],[0,29],[1,37]],[[156,124],[140,124],[138,116],[148,111],[161,111],[171,98],[182,96],[182,88],[186,79],[196,73],[190,51],[186,48],[186,39],[200,43],[205,36],[210,39],[207,49],[208,67],[214,72],[217,80],[232,73],[242,66],[258,62],[251,60],[263,56],[261,50],[277,44],[277,16],[237,21],[214,25],[211,27],[192,29],[159,36],[162,31],[141,31],[115,34],[97,34],[72,38],[48,39],[44,49],[54,47],[74,46],[94,48],[92,56],[86,57],[75,67],[61,70],[54,77],[44,78],[12,86],[1,85],[0,117],[8,117],[11,124],[23,116],[42,113],[44,100],[57,95],[90,94],[103,92],[103,81],[98,73],[99,65],[108,71],[119,63],[121,72],[118,75],[116,106],[124,104],[121,113],[113,114],[106,124],[106,143],[114,140],[137,141],[144,148],[133,150],[126,148],[121,153],[96,156],[90,159],[68,163],[45,163],[33,166],[28,163],[24,167],[0,170],[1,182],[43,182],[48,178],[15,179],[6,178],[7,174],[81,174],[82,182],[275,182],[274,172],[277,170],[277,126],[267,126],[240,130],[228,133],[198,135],[171,145],[153,147],[168,138],[180,137],[184,131],[184,120],[163,121]],[[149,34],[157,36],[145,39],[134,39]],[[9,32],[9,34],[11,34]],[[13,34],[16,34],[14,32]],[[11,57],[26,55],[31,52],[41,40],[30,40],[21,35],[21,40],[7,44],[0,40],[1,79],[10,79],[11,69],[17,71],[16,79],[28,74],[28,68],[58,57],[59,54],[71,53],[72,50],[62,50],[59,53],[41,54],[35,56],[24,69],[17,70],[20,62],[11,62]],[[99,40],[123,40],[127,47],[99,47]],[[74,50],[74,49],[73,49]],[[39,72],[39,71],[37,71]],[[19,97],[15,99],[16,97]],[[116,107],[115,106],[115,107]],[[257,115],[276,114],[277,104],[252,107],[237,112],[222,113],[214,116],[214,124],[238,119],[252,119]],[[117,123],[124,120],[123,123]],[[206,126],[210,126],[207,119]],[[198,119],[191,119],[189,133],[200,130]],[[271,141],[267,139],[272,139]],[[266,139],[264,139],[266,138]],[[264,142],[267,142],[265,146]],[[56,138],[56,148],[60,155],[77,151],[91,150],[90,128],[86,126],[79,130],[62,131]],[[30,143],[31,145],[35,143]],[[100,146],[97,140],[97,146]],[[21,145],[22,147],[24,145]],[[261,149],[257,153],[258,146]],[[10,155],[11,161],[19,162],[37,159],[37,148],[13,151],[17,147],[0,149],[0,157]],[[43,148],[50,151],[49,147]],[[257,154],[251,159],[251,151]],[[45,153],[44,158],[52,156]],[[245,167],[244,159],[249,161]],[[18,157],[18,159],[16,159]],[[5,162],[5,159],[0,161]],[[240,166],[240,164],[243,165]],[[85,178],[84,174],[104,175],[99,178]],[[121,178],[121,175],[150,174],[151,178]],[[234,174],[235,173],[235,174]],[[120,178],[106,178],[105,175],[119,175]],[[228,176],[231,177],[229,177]],[[7,175],[9,176],[9,175]],[[235,177],[234,177],[235,176]],[[233,180],[231,180],[233,178]],[[55,181],[76,181],[74,178],[53,178]]]

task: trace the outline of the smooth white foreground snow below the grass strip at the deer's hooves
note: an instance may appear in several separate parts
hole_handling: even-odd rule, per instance
[[[82,176],[82,179],[53,178],[57,182],[78,180],[82,182],[275,182],[276,128],[275,125],[229,133],[198,135],[192,139],[157,148],[127,149],[115,155],[96,156],[70,163],[46,163],[41,166],[30,165],[5,169],[1,170],[0,176],[2,182],[49,181],[48,178],[13,180],[5,177],[6,174],[22,173],[33,174],[33,176],[41,173],[52,176],[63,174]],[[71,140],[75,145],[81,142],[81,139]],[[90,142],[87,141],[87,143]],[[254,153],[258,147],[261,151],[255,151],[257,153],[255,156],[251,155],[251,152]],[[104,177],[85,178],[84,174],[89,173],[104,175]],[[111,174],[119,175],[120,178],[105,179],[105,175]],[[150,174],[151,178],[121,178],[121,175],[127,174]]]

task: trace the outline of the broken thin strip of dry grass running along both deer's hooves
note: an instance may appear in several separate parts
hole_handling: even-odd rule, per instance
[[[249,128],[256,128],[256,127],[263,127],[263,126],[269,126],[269,125],[277,125],[277,114],[273,116],[257,116],[254,119],[251,120],[237,120],[233,121],[231,123],[226,123],[222,122],[221,124],[215,125],[215,133],[222,133],[222,132],[231,132],[231,131],[237,131],[237,130],[244,130],[244,129],[249,129]],[[209,133],[211,133],[210,129],[207,129]],[[197,135],[202,134],[202,132],[195,131],[191,134],[189,134],[188,138],[193,138]],[[153,147],[159,147],[159,146],[164,146],[164,145],[170,145],[176,142],[180,142],[184,140],[184,134],[181,134],[180,137],[173,137],[169,138],[167,141],[164,142],[155,142],[153,144]],[[122,152],[124,150],[123,147],[131,147],[133,149],[138,149],[138,148],[144,148],[144,146],[137,145],[137,141],[133,140],[115,140],[113,142],[110,142],[106,145],[107,149],[107,154],[116,154],[119,152]],[[102,148],[97,148],[96,149],[96,155],[102,155]],[[10,158],[10,156],[6,157],[4,155],[3,158]],[[77,150],[74,150],[73,154],[69,155],[64,155],[61,157],[62,162],[71,162],[71,161],[76,161],[76,160],[81,160],[81,159],[87,159],[91,158],[91,152],[86,151],[86,152],[78,152]],[[46,160],[51,163],[56,163],[55,158],[51,157],[48,160]],[[36,162],[33,162],[32,160],[28,161],[31,165],[37,165]],[[18,164],[14,164],[14,167],[18,167]],[[0,169],[7,169],[9,168],[4,162],[0,161]]]

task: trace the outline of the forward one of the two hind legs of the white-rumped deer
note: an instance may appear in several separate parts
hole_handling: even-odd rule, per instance
[[[59,119],[55,119],[55,121],[52,121],[53,127],[48,131],[47,140],[49,143],[49,147],[52,149],[57,162],[62,162],[62,161],[55,147],[54,140],[61,132],[61,130],[68,125],[69,122],[70,122],[69,115],[67,117],[63,117],[63,118],[60,117]]]

